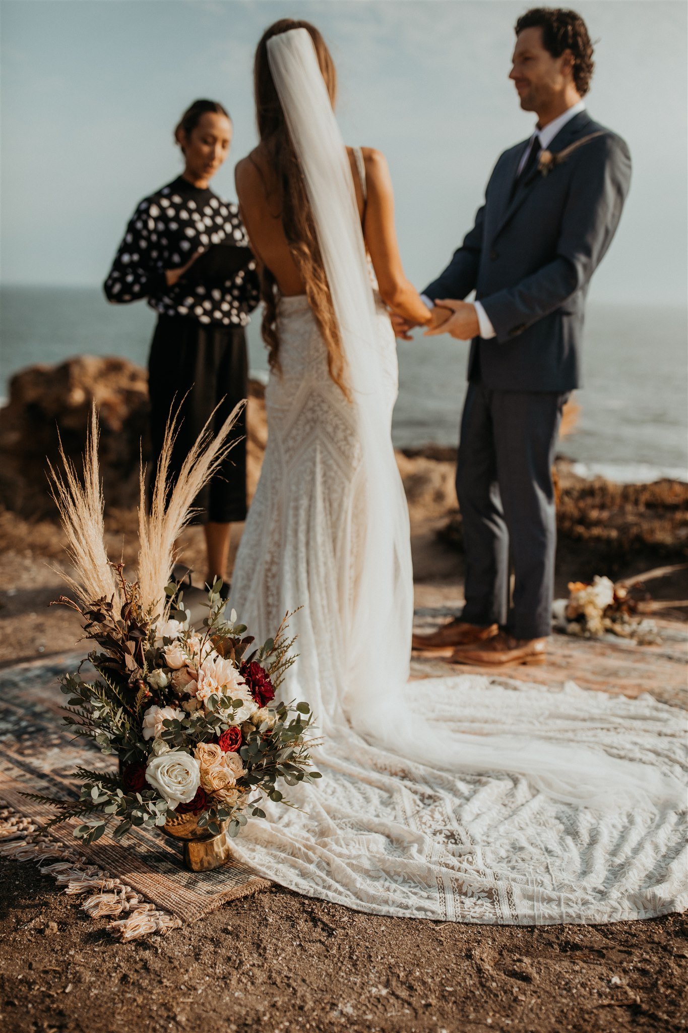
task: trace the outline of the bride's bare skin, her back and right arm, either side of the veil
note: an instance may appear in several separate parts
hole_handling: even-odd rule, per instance
[[[378,279],[380,294],[393,311],[414,323],[430,322],[430,311],[404,276],[394,227],[394,195],[385,156],[362,148],[367,197],[348,148],[363,237]],[[282,191],[265,148],[259,145],[236,166],[236,192],[243,224],[258,261],[274,277],[284,296],[304,292],[282,225]]]

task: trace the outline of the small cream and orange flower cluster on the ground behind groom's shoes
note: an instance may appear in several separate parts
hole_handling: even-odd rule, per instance
[[[634,618],[637,604],[623,585],[595,575],[591,584],[569,582],[568,592],[568,599],[554,606],[555,619],[567,634],[598,638],[611,633],[640,645],[660,641],[654,621]]]

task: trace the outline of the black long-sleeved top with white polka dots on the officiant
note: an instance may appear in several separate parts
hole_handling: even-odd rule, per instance
[[[199,248],[223,242],[247,249],[244,269],[212,288],[185,284],[184,278],[167,285],[165,270],[186,265]],[[221,326],[245,326],[260,301],[256,262],[238,208],[181,176],[140,202],[103,286],[109,302],[145,298],[162,315]]]

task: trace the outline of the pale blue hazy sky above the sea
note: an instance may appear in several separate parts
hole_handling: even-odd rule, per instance
[[[235,127],[212,181],[256,143],[252,62],[277,18],[313,21],[337,65],[349,144],[390,163],[409,278],[424,286],[472,224],[501,151],[527,137],[507,80],[513,0],[3,0],[2,280],[96,285],[138,200],[181,170],[197,97]],[[591,114],[626,138],[631,190],[591,298],[685,305],[688,6],[586,0]]]

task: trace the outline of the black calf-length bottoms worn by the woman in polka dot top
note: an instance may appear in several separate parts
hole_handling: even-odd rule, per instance
[[[178,410],[171,481],[212,410],[218,431],[237,402],[247,397],[248,358],[243,327],[206,325],[185,316],[159,316],[149,358],[153,483],[165,427]],[[228,524],[247,515],[245,409],[230,433],[236,443],[219,471],[198,494],[193,524]],[[149,496],[150,498],[150,496]]]

